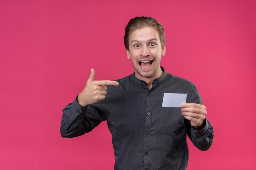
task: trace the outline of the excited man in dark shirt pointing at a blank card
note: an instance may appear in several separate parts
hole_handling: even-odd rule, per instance
[[[200,94],[191,82],[160,67],[165,35],[154,18],[131,19],[124,44],[134,74],[94,81],[92,69],[83,91],[63,109],[61,136],[83,135],[106,120],[115,150],[114,169],[185,170],[186,134],[200,150],[209,149],[213,141]],[[164,93],[187,94],[186,103],[181,108],[162,107]]]

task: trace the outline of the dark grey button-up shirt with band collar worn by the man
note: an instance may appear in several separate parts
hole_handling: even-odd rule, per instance
[[[117,81],[118,86],[108,86],[104,100],[81,108],[75,99],[63,109],[62,137],[83,135],[106,120],[116,170],[185,170],[189,158],[186,134],[200,150],[211,146],[213,128],[208,120],[195,130],[181,108],[162,107],[164,93],[186,93],[187,103],[202,104],[191,82],[165,71],[150,90],[135,74]]]

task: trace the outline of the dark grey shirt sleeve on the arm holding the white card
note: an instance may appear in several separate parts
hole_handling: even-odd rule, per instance
[[[197,104],[203,104],[202,98],[198,93],[195,85],[193,85],[193,92],[191,93],[191,102]],[[204,126],[200,129],[194,129],[189,120],[185,120],[187,126],[187,135],[193,144],[200,150],[208,150],[213,142],[213,127],[209,120],[205,119]]]

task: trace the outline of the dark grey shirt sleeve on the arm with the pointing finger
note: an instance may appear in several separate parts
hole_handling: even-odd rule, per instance
[[[102,100],[101,100],[102,101]],[[92,131],[98,126],[104,118],[104,105],[99,102],[97,107],[88,105],[81,107],[77,98],[69,103],[63,110],[61,119],[61,136],[64,138],[72,138],[83,135]]]

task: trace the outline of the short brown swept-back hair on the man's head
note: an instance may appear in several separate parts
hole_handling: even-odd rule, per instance
[[[155,28],[159,34],[162,47],[165,45],[164,27],[153,17],[135,17],[130,19],[124,34],[124,46],[126,50],[129,50],[129,39],[132,31],[143,28],[145,26],[151,26]]]

